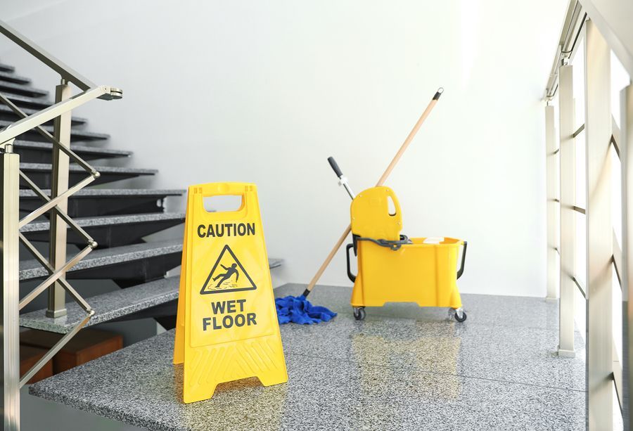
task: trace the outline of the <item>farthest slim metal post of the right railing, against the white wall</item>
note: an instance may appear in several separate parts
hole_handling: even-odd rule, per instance
[[[558,155],[554,106],[545,107],[545,165],[547,183],[547,300],[558,297]]]

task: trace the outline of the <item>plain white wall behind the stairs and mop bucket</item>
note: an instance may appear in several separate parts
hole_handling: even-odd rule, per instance
[[[468,240],[463,292],[544,295],[542,96],[566,1],[4,1],[4,20],[124,99],[77,112],[141,186],[252,181],[280,281],[307,283],[438,86],[388,181],[404,233]],[[0,60],[52,88],[8,42]],[[179,205],[172,205],[176,209]],[[340,254],[321,283],[349,285]]]

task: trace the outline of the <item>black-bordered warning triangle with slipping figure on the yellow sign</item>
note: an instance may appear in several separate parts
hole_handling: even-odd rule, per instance
[[[229,245],[224,245],[207,281],[200,289],[200,295],[209,293],[238,292],[239,290],[255,290],[257,287],[244,269]]]

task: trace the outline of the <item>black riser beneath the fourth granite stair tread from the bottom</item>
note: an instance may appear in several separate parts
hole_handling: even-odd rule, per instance
[[[31,212],[40,205],[39,198],[22,198],[20,199],[20,212]],[[164,211],[165,198],[160,196],[96,196],[68,200],[68,215],[70,217],[97,217]],[[22,216],[24,215],[22,214]]]

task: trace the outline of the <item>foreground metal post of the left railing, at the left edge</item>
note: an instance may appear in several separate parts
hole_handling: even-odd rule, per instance
[[[20,327],[18,302],[20,295],[19,241],[18,241],[18,191],[20,156],[12,153],[7,143],[0,155],[0,205],[2,227],[2,413],[3,430],[20,429]]]

